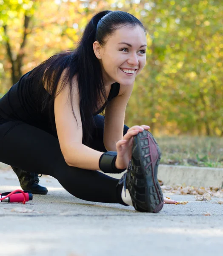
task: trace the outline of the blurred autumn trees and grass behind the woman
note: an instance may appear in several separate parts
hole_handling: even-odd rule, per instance
[[[126,125],[150,125],[163,163],[223,167],[223,5],[219,0],[0,0],[0,97],[61,50],[97,12],[129,12],[148,31]]]

